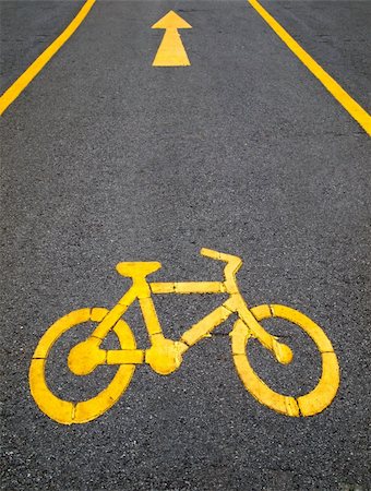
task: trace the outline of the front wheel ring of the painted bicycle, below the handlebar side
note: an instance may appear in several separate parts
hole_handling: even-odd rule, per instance
[[[323,411],[333,402],[340,381],[337,358],[325,333],[307,315],[286,306],[265,304],[250,310],[258,321],[279,318],[303,330],[321,354],[322,374],[316,386],[300,397],[273,391],[258,376],[249,362],[247,345],[253,337],[242,320],[238,320],[231,332],[232,355],[236,370],[246,388],[261,404],[286,416],[314,416]]]

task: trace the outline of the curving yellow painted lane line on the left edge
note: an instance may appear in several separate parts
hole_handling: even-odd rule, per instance
[[[57,39],[47,47],[41,55],[27,68],[25,72],[2,94],[0,97],[0,115],[19,97],[26,86],[35,79],[35,76],[44,69],[56,52],[64,45],[64,43],[77,29],[84,21],[96,0],[86,0],[82,9],[79,11],[73,21],[65,27]]]

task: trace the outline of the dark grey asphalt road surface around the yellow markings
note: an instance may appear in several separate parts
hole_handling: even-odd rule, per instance
[[[0,5],[5,89],[82,2]],[[264,5],[371,109],[371,2]],[[180,32],[190,67],[152,67],[164,32],[151,26],[169,10],[192,26]],[[370,490],[370,209],[369,136],[251,5],[98,1],[1,118],[2,489]],[[137,367],[91,422],[40,411],[28,369],[48,326],[112,308],[130,286],[120,261],[159,261],[156,282],[222,280],[202,247],[243,260],[249,306],[287,304],[323,327],[340,366],[333,404],[290,418],[255,400],[235,370],[231,319],[176,373]],[[220,298],[155,302],[178,339]],[[144,349],[141,319],[137,306],[125,315]],[[254,370],[277,392],[309,392],[314,345],[266,327],[295,358],[282,366],[253,343]],[[79,400],[105,387],[116,368],[72,375],[63,346],[52,390]]]

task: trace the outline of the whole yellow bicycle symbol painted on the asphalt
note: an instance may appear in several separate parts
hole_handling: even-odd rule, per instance
[[[236,370],[246,388],[262,404],[287,416],[313,416],[324,410],[334,399],[339,386],[339,367],[332,344],[322,328],[307,315],[285,306],[264,304],[248,308],[239,292],[236,273],[242,261],[230,254],[202,249],[201,254],[226,264],[224,282],[148,283],[146,277],[161,267],[158,262],[119,263],[117,271],[132,278],[132,286],[111,310],[94,307],[70,312],[52,324],[39,340],[29,367],[32,395],[49,418],[63,423],[84,423],[103,415],[113,406],[127,390],[135,366],[147,363],[156,373],[168,375],[176,371],[187,350],[207,336],[231,314],[237,314],[230,332],[232,358]],[[152,295],[166,294],[229,294],[217,309],[192,325],[179,340],[164,336],[157,319]],[[139,300],[148,332],[151,347],[136,349],[135,338],[129,325],[121,319],[128,308]],[[253,371],[247,344],[258,339],[280,363],[290,363],[291,349],[267,333],[260,321],[268,318],[285,319],[301,327],[314,342],[321,354],[322,374],[316,386],[308,394],[292,397],[270,388]],[[76,375],[87,375],[98,366],[118,366],[111,382],[88,400],[72,402],[57,397],[48,387],[45,369],[56,342],[79,324],[97,323],[86,340],[74,346],[68,357],[69,369]],[[106,350],[100,346],[113,332],[121,349]]]

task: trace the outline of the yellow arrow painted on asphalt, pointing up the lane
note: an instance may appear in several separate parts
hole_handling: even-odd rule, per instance
[[[192,28],[188,22],[170,10],[152,28],[166,29],[157,55],[152,63],[153,67],[189,67],[191,64],[178,33],[178,29]]]

